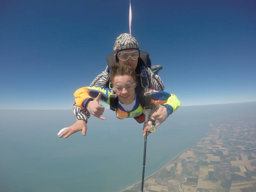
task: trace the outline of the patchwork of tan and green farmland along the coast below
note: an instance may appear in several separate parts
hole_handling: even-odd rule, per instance
[[[212,122],[206,137],[146,178],[144,192],[256,191],[256,118]],[[123,192],[140,192],[141,182]]]

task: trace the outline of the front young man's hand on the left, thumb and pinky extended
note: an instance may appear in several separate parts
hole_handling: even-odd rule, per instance
[[[100,97],[101,97],[101,93],[99,93],[98,96],[94,100],[88,101],[86,103],[86,109],[93,116],[95,116],[99,119],[105,120],[105,117],[101,116],[103,114],[105,108],[99,104]]]

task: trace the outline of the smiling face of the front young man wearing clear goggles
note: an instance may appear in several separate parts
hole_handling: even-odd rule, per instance
[[[115,76],[113,89],[116,92],[119,100],[123,104],[130,104],[135,99],[135,82],[131,76]]]

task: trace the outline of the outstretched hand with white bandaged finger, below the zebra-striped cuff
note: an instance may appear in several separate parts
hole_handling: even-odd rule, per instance
[[[59,138],[63,137],[68,138],[68,136],[78,132],[82,131],[82,134],[85,136],[87,130],[87,125],[84,120],[77,120],[76,123],[73,125],[70,125],[69,127],[63,128],[60,130],[60,132],[57,134],[59,135]]]

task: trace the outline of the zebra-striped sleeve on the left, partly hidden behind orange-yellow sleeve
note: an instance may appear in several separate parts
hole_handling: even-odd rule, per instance
[[[92,81],[92,83],[90,84],[90,87],[92,86],[105,87],[107,80],[108,80],[108,66],[105,69],[105,71],[102,71],[102,73]],[[88,110],[78,107],[76,103],[73,104],[72,111],[74,116],[76,116],[77,120],[83,119],[85,123],[87,123],[88,118],[90,118],[90,115],[91,115]]]

